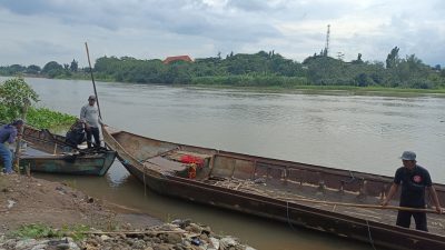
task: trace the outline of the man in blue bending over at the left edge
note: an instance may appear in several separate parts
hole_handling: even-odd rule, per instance
[[[0,157],[3,159],[3,172],[7,174],[12,173],[12,153],[6,142],[13,143],[16,141],[16,138],[18,136],[21,136],[18,134],[18,131],[21,130],[21,127],[23,124],[24,121],[18,119],[0,128]]]

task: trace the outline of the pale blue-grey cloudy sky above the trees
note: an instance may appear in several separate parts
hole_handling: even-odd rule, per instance
[[[164,59],[275,50],[384,61],[395,46],[445,66],[443,0],[0,0],[0,66],[102,56]]]

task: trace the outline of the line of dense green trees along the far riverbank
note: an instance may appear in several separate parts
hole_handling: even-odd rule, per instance
[[[303,62],[284,58],[275,51],[227,54],[196,59],[194,62],[159,59],[141,60],[131,57],[101,57],[93,72],[98,80],[164,83],[164,84],[224,84],[224,86],[354,86],[414,89],[445,88],[445,69],[431,67],[415,54],[402,58],[399,48],[389,51],[386,61],[344,61],[327,53],[314,54]],[[13,64],[0,67],[0,74],[30,74],[48,78],[88,78],[89,69],[78,62],[59,64],[50,61],[38,66]]]

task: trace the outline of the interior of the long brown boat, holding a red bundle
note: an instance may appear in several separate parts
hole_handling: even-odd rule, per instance
[[[366,208],[380,204],[392,184],[389,177],[177,144],[123,131],[111,134],[142,168],[165,176],[383,223],[396,221],[396,210]],[[445,204],[444,193],[439,194],[441,203]],[[398,201],[394,199],[390,204],[397,206]],[[431,204],[428,199],[428,207]],[[428,213],[428,229],[445,234],[445,216]]]

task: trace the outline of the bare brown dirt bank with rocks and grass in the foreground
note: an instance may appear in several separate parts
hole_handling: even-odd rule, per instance
[[[161,221],[67,183],[0,176],[0,249],[249,249],[187,219]]]

